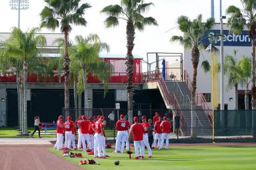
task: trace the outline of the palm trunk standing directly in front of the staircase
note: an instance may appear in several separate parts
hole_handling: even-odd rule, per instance
[[[193,46],[192,48],[192,64],[193,64],[193,81],[192,81],[192,104],[191,104],[191,137],[197,137],[195,132],[195,124],[196,124],[196,116],[195,112],[195,94],[197,92],[197,66],[199,63],[199,49],[197,46]]]

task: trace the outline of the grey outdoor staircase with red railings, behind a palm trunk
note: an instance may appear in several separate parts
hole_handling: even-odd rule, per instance
[[[187,74],[186,74],[187,75]],[[196,117],[195,133],[197,136],[212,135],[211,111],[207,107],[205,98],[197,94],[195,110],[191,111],[191,81],[185,82],[165,82],[161,74],[157,75],[157,87],[163,97],[165,106],[181,117],[181,129],[183,135],[191,134],[191,114]],[[191,113],[192,112],[192,113]]]

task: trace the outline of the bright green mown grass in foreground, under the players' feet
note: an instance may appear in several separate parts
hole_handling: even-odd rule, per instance
[[[63,157],[61,151],[49,148],[49,151]],[[79,158],[63,157],[75,165],[84,169],[98,170],[165,170],[165,169],[256,169],[256,145],[251,146],[173,146],[169,150],[153,149],[153,159],[135,160],[134,155],[129,160],[127,154],[114,154],[113,149],[108,149],[108,159],[95,159],[101,165],[79,165]],[[93,159],[93,155],[87,155],[82,151],[86,159]],[[115,160],[120,165],[114,165]]]

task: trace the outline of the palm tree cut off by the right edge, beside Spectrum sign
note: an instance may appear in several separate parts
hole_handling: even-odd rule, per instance
[[[255,32],[256,32],[256,1],[241,0],[243,9],[234,5],[227,8],[227,14],[230,15],[227,25],[229,31],[235,35],[240,35],[243,28],[248,29],[251,39],[251,107],[256,110],[256,87],[255,87]]]

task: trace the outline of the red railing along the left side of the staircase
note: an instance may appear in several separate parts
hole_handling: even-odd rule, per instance
[[[163,92],[163,96],[167,101],[167,104],[169,106],[173,106],[173,109],[177,112],[177,114],[179,114],[181,118],[180,121],[181,121],[181,127],[183,129],[183,133],[184,135],[187,135],[187,126],[186,126],[185,118],[175,94],[169,92],[167,85],[165,83],[165,80],[163,80],[163,77],[161,76],[161,74],[157,77],[159,77],[159,81],[158,81],[159,86],[161,88],[161,91]]]

